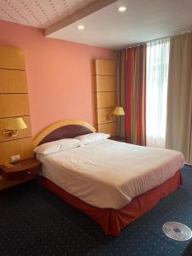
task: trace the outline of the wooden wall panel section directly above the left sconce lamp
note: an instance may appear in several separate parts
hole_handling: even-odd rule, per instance
[[[0,118],[29,115],[27,94],[0,94]]]

